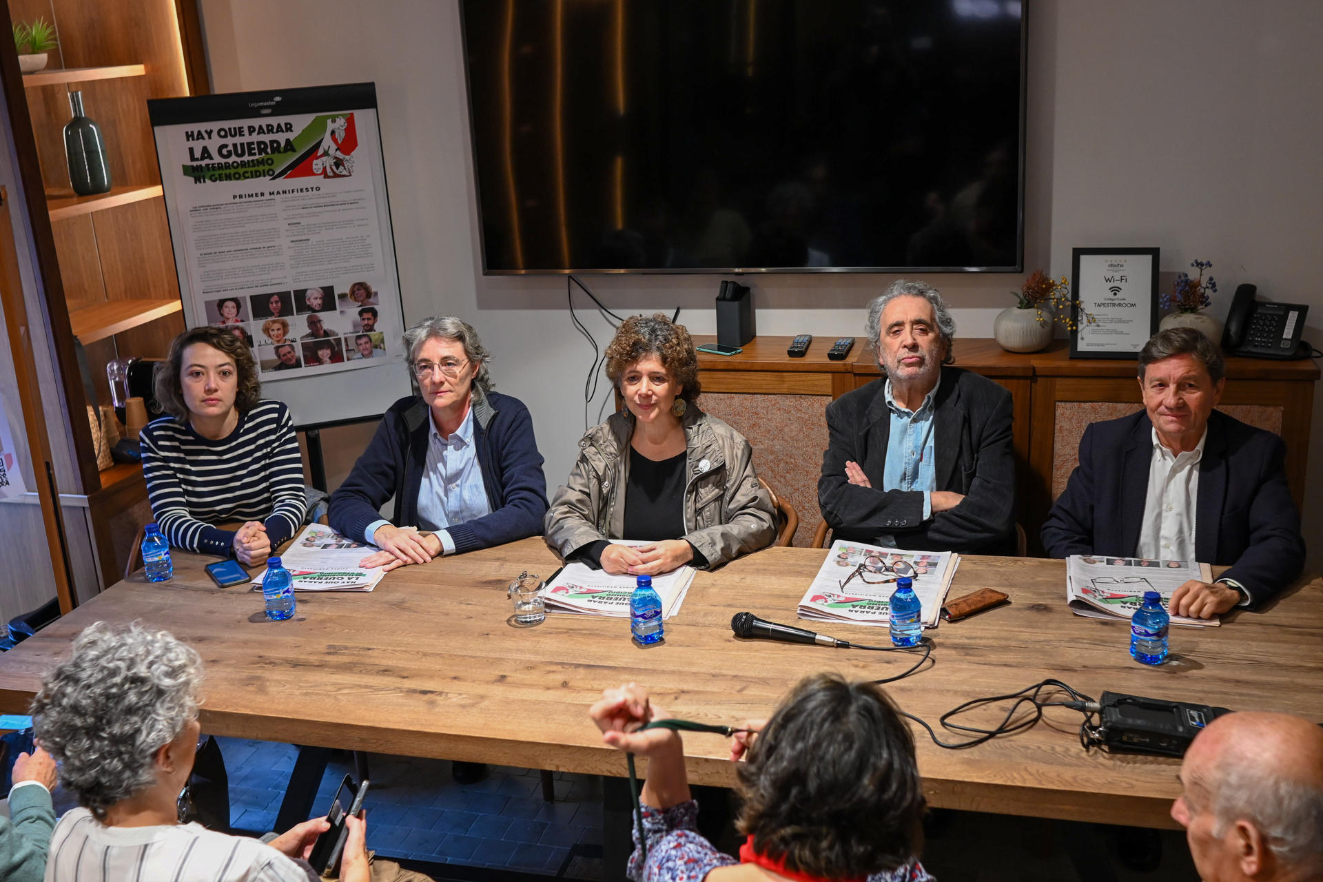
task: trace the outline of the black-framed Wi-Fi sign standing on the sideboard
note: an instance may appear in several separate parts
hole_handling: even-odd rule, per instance
[[[1159,249],[1074,249],[1070,357],[1135,358],[1158,332]]]

